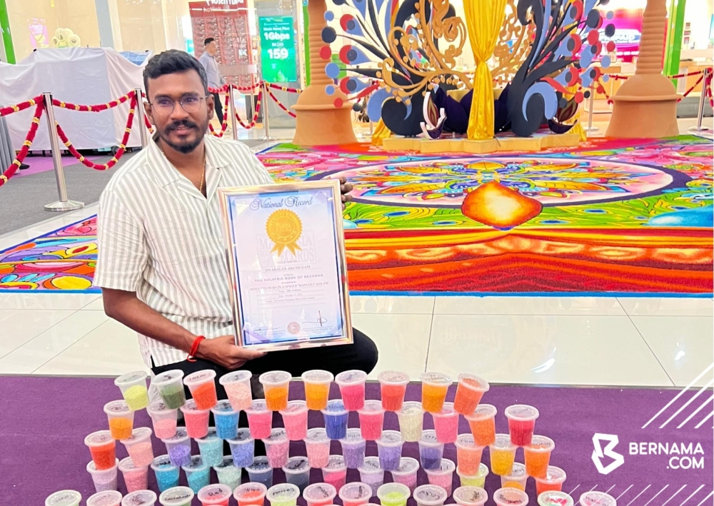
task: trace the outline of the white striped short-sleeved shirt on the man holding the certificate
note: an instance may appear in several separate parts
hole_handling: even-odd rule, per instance
[[[235,332],[228,262],[216,189],[272,183],[250,148],[205,137],[206,197],[155,142],[124,164],[99,199],[94,285],[136,292],[139,300],[193,334]],[[186,353],[139,334],[146,365]]]

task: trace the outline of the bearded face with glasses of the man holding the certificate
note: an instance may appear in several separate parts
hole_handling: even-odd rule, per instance
[[[194,70],[164,74],[149,79],[148,93],[151,105],[146,103],[144,108],[161,140],[176,151],[191,153],[203,141],[213,118],[213,96],[206,98],[201,76]]]

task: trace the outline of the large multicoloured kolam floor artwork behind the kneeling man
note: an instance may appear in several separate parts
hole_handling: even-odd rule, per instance
[[[353,292],[713,291],[713,144],[423,156],[365,144],[259,155],[276,182],[345,176]],[[0,253],[2,290],[91,290],[91,218]]]

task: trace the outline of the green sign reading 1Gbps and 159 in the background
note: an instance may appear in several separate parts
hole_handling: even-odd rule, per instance
[[[297,81],[293,18],[258,18],[258,26],[261,31],[263,79],[270,83]]]

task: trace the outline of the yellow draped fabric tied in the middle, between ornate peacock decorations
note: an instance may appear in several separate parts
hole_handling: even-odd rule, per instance
[[[493,138],[493,78],[486,61],[496,49],[498,32],[506,19],[506,0],[468,0],[463,2],[466,29],[476,59],[473,76],[473,101],[468,118],[468,138]]]

